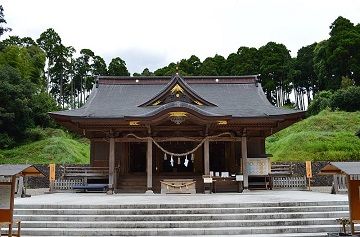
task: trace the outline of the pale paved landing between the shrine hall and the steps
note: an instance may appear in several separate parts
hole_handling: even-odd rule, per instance
[[[221,204],[221,203],[279,203],[347,201],[346,194],[327,194],[311,191],[249,191],[231,194],[114,194],[54,193],[16,198],[15,205],[119,205],[119,204]]]

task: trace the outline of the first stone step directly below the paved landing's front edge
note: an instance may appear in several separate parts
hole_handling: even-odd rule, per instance
[[[348,211],[348,206],[299,206],[299,207],[228,207],[228,208],[153,208],[153,209],[16,209],[15,215],[160,215],[160,214],[222,214],[270,212]]]

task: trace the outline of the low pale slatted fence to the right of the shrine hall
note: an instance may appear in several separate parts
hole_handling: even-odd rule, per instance
[[[274,189],[305,189],[305,176],[278,176],[272,177],[272,187]]]

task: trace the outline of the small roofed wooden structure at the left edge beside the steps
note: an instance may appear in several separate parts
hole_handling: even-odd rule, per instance
[[[8,226],[7,236],[21,235],[21,222],[13,219],[15,180],[19,176],[43,176],[41,171],[32,165],[0,165],[0,235],[1,226]],[[13,226],[17,232],[13,234]]]

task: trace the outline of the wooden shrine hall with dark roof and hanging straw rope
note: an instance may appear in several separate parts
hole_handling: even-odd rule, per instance
[[[304,112],[271,105],[257,76],[176,74],[99,76],[84,106],[50,115],[90,139],[91,166],[109,167],[111,190],[160,193],[203,192],[204,177],[217,192],[255,188],[270,172],[265,138]]]

